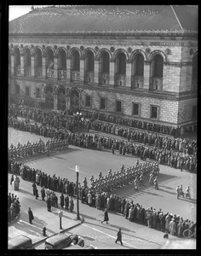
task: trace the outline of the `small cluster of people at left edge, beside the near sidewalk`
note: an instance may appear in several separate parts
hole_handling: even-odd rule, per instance
[[[20,213],[20,201],[17,195],[8,195],[8,221],[9,223]]]

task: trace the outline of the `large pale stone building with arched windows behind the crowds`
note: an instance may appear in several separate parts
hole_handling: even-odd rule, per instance
[[[67,22],[71,19],[69,13],[79,16],[87,7],[33,9],[10,22],[11,96],[26,97],[35,104],[44,102],[52,109],[97,111],[175,127],[196,125],[196,26],[134,31],[108,31],[105,27],[91,30],[86,26],[86,31],[28,31],[29,17],[41,17],[40,12],[61,13],[62,17],[66,9]],[[103,7],[91,9],[93,14],[100,14]],[[117,7],[112,8],[116,15],[119,9],[117,12]]]

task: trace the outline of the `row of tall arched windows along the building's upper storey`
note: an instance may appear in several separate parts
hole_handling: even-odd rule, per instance
[[[70,71],[70,78],[72,81],[84,80],[85,82],[95,82],[95,72],[98,75],[99,84],[110,84],[111,73],[114,75],[115,85],[126,85],[126,76],[130,75],[131,87],[143,87],[144,78],[144,65],[145,55],[143,52],[138,51],[133,55],[131,62],[131,71],[127,73],[127,56],[124,52],[118,51],[115,55],[114,67],[111,70],[110,62],[111,55],[106,51],[102,50],[98,58],[98,67],[95,67],[95,54],[92,50],[86,51],[84,57],[84,64],[81,68],[81,54],[78,49],[72,50],[71,58],[66,61],[66,51],[60,49],[58,56],[55,57],[54,50],[47,48],[45,55],[43,56],[40,48],[35,48],[34,61],[32,63],[31,50],[25,48],[24,54],[24,66],[21,63],[20,49],[14,47],[14,60],[11,63],[11,55],[9,50],[9,64],[14,67],[15,75],[33,75],[35,77],[45,76],[46,78],[58,78],[66,79],[67,70]],[[44,62],[43,62],[44,58]],[[150,61],[150,78],[153,89],[159,89],[163,84],[164,77],[164,56],[159,53],[152,56]],[[23,67],[22,67],[23,66]],[[45,70],[43,71],[43,68]],[[96,70],[95,70],[96,68]],[[21,73],[24,69],[24,74]],[[98,70],[97,70],[98,69]],[[83,72],[83,78],[82,78]],[[192,80],[198,77],[198,55],[195,55],[192,61]],[[162,89],[162,88],[161,88]]]

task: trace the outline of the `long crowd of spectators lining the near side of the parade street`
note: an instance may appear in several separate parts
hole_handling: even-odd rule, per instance
[[[9,160],[9,162],[10,166],[12,161]],[[67,201],[66,198],[69,196],[75,197],[77,195],[76,183],[69,181],[67,178],[56,177],[56,175],[51,177],[41,170],[23,165],[20,162],[14,162],[13,164],[19,166],[18,174],[22,177],[22,179],[30,181],[33,184],[39,185],[41,188],[46,189],[46,191],[44,191],[44,197],[47,195],[47,190],[49,193],[51,191],[61,193],[61,198],[63,197],[62,201],[64,201],[64,203],[61,202],[60,206],[65,207],[66,210],[68,210],[69,200]],[[135,166],[138,166],[138,164]],[[123,167],[119,169],[119,172],[121,172],[121,170],[123,170]],[[9,172],[11,172],[10,167]],[[111,170],[109,173],[112,173]],[[156,175],[158,175],[158,172]],[[132,182],[129,181],[129,183]],[[124,185],[124,183],[119,183],[120,187]],[[141,183],[141,185],[143,184]],[[105,186],[95,188],[93,186],[93,182],[90,186],[88,186],[84,179],[83,185],[80,183],[78,184],[78,195],[81,201],[88,204],[90,207],[96,207],[99,210],[107,208],[111,212],[121,213],[123,217],[129,219],[130,222],[144,224],[148,228],[168,232],[169,234],[178,237],[183,236],[184,230],[190,229],[192,230],[192,233],[195,233],[194,236],[196,236],[196,222],[183,219],[181,216],[173,213],[164,213],[162,209],[156,211],[156,209],[153,207],[145,208],[139,203],[134,203],[134,201],[129,201],[123,196],[116,195],[115,191],[113,191],[113,189],[116,188],[112,188],[110,191],[105,191],[105,189]],[[55,193],[52,193],[52,195],[55,195]],[[37,196],[40,197],[39,195]],[[59,207],[57,201],[56,203],[53,203],[52,207]],[[172,225],[173,222],[174,225]],[[172,228],[172,226],[174,226],[174,228]]]

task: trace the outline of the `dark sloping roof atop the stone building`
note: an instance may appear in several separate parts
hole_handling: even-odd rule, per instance
[[[198,31],[198,7],[85,5],[33,9],[9,22],[9,33]]]

